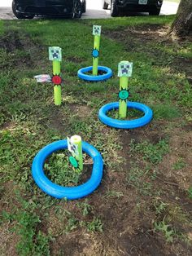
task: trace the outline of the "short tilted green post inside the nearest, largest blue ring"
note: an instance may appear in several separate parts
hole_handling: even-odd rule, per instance
[[[72,156],[69,157],[69,161],[72,166],[78,170],[83,170],[83,152],[82,152],[82,140],[81,136],[74,135],[71,139],[68,138],[68,150],[72,152]]]

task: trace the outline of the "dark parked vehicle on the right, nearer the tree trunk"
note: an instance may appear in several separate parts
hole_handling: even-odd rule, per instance
[[[111,16],[116,17],[120,11],[149,12],[159,15],[163,0],[103,0],[103,9],[111,6]]]

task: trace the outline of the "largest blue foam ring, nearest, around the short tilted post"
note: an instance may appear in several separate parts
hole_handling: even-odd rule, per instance
[[[50,143],[45,148],[42,148],[33,160],[32,174],[33,179],[37,183],[37,186],[41,188],[43,192],[56,198],[78,199],[89,195],[98,188],[103,177],[103,158],[96,148],[89,143],[82,142],[82,149],[93,158],[94,166],[90,179],[77,187],[62,187],[55,183],[52,183],[50,179],[46,177],[43,166],[46,158],[53,152],[68,148],[68,142],[66,139],[59,140],[54,143]]]

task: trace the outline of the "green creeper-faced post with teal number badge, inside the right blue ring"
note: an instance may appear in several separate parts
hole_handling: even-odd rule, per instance
[[[129,98],[128,80],[132,75],[133,63],[121,61],[118,66],[118,77],[120,77],[119,91],[119,117],[127,117],[127,102]]]

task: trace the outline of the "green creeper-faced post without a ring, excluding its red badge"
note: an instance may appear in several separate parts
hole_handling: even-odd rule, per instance
[[[60,76],[61,73],[61,60],[62,52],[58,46],[49,47],[49,58],[53,61],[53,76]],[[59,106],[62,103],[61,85],[55,84],[54,86],[54,99],[55,105]]]

